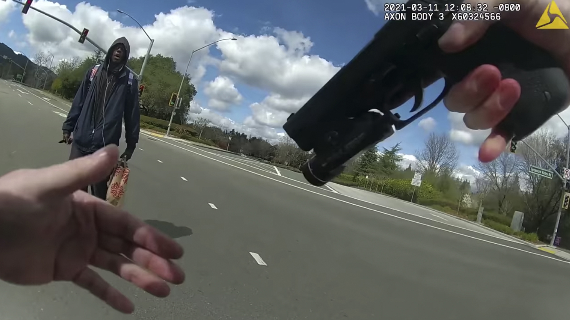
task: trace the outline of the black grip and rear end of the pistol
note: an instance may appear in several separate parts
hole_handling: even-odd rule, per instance
[[[503,79],[518,81],[520,99],[497,126],[500,133],[515,141],[530,135],[568,105],[570,84],[559,61],[503,24],[491,26],[467,50],[440,58],[441,71],[452,83],[482,64],[495,65]]]

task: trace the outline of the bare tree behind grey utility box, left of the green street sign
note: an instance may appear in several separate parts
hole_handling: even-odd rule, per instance
[[[510,210],[507,195],[513,190],[518,179],[520,159],[513,154],[503,152],[494,161],[479,162],[476,169],[488,179],[498,196],[499,212],[506,215]],[[518,187],[518,186],[517,186]]]

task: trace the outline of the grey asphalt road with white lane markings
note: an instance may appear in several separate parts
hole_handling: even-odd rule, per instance
[[[67,159],[65,106],[43,97],[0,80],[0,174]],[[0,318],[567,319],[558,257],[238,158],[141,135],[125,208],[184,246],[186,283],[170,297],[104,273],[136,303],[122,315],[71,284],[0,283]]]

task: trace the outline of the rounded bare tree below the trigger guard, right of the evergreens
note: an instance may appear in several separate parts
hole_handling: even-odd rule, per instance
[[[453,171],[457,166],[459,154],[447,134],[430,133],[424,149],[416,154],[416,158],[418,167],[424,173],[438,173],[443,168]]]

